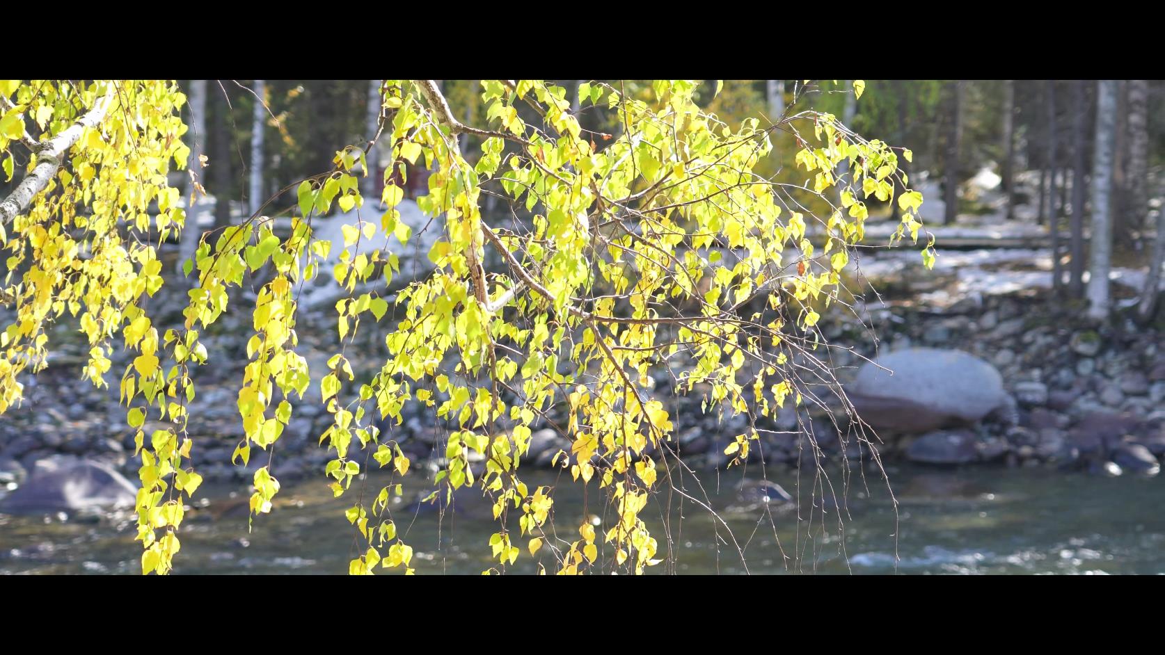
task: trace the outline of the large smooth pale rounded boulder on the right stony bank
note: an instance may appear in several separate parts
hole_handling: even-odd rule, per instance
[[[866,363],[846,390],[857,414],[878,429],[924,433],[973,423],[991,413],[1016,422],[998,371],[960,350],[911,348]]]

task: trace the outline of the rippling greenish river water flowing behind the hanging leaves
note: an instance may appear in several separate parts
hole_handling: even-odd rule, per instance
[[[1165,480],[1102,478],[1037,469],[888,469],[885,482],[867,470],[849,476],[846,515],[822,501],[821,489],[841,490],[834,471],[825,483],[795,470],[768,478],[799,497],[796,507],[742,505],[741,472],[687,477],[692,501],[672,494],[672,557],[649,572],[679,574],[1162,574],[1165,572]],[[758,477],[750,470],[750,478]],[[411,475],[410,475],[411,477]],[[601,522],[602,496],[594,483],[584,498],[569,477],[531,471],[525,482],[555,485],[556,525],[564,539],[587,518]],[[367,480],[375,494],[387,479]],[[210,505],[188,513],[175,574],[344,574],[355,531],[344,510],[359,492],[333,499],[326,483],[285,484],[270,515],[248,532],[246,496],[236,486],[204,485]],[[416,482],[414,482],[416,484]],[[818,489],[813,493],[813,489]],[[232,493],[234,497],[232,498]],[[828,496],[828,493],[827,493]],[[649,506],[652,533],[666,555],[666,497]],[[799,510],[798,510],[799,507]],[[822,514],[825,510],[825,514]],[[489,568],[489,535],[496,524],[473,496],[444,513],[402,500],[394,510],[401,535],[415,549],[418,574],[480,574]],[[0,515],[0,574],[132,574],[140,571],[132,515],[100,520]],[[515,521],[516,522],[516,521]],[[609,519],[608,519],[609,524]],[[602,528],[599,528],[602,534]],[[601,541],[601,537],[600,537]],[[522,542],[524,546],[524,542]],[[743,557],[741,556],[743,554]],[[549,549],[541,553],[550,572]],[[609,557],[608,557],[609,558]],[[508,572],[535,572],[523,548]],[[379,571],[380,569],[377,569]]]

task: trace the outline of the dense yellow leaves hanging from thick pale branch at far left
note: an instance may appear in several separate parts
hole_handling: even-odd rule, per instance
[[[167,572],[181,547],[175,535],[183,518],[181,493],[193,493],[202,482],[184,467],[191,441],[183,434],[183,400],[192,391],[186,363],[206,353],[197,335],[168,332],[160,340],[140,304],[162,286],[156,244],[185,221],[178,192],[167,185],[171,162],[182,168],[189,156],[178,114],[185,98],[174,81],[162,80],[2,80],[0,94],[14,107],[2,118],[0,137],[9,178],[8,150],[21,135],[38,131],[35,140],[47,142],[110,99],[104,120],[84,128],[44,192],[0,227],[8,271],[2,296],[16,311],[0,334],[0,413],[21,398],[17,376],[45,365],[45,328],[54,320],[78,318],[91,347],[85,376],[97,385],[105,385],[111,341],[121,332],[125,347],[139,353],[122,372],[121,399],[130,406],[127,420],[142,456],[142,570]],[[37,158],[29,162],[35,165]],[[163,346],[179,356],[172,366],[163,365]],[[154,430],[147,441],[143,422],[151,411],[171,427]]]

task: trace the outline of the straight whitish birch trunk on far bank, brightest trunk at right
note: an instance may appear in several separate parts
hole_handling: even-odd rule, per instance
[[[1096,86],[1096,140],[1093,155],[1092,243],[1089,247],[1088,316],[1103,320],[1109,311],[1108,271],[1113,257],[1113,156],[1116,150],[1117,81]]]

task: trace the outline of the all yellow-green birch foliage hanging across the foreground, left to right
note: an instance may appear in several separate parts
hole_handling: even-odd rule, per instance
[[[103,81],[80,90],[50,85],[56,97],[34,98],[22,84],[17,101],[22,115],[45,118],[51,131],[76,115],[68,107],[92,104],[112,84],[119,85],[119,111],[78,143],[52,191],[12,226],[9,270],[26,259],[31,264],[22,284],[6,289],[19,299],[19,318],[0,335],[0,412],[20,397],[20,370],[43,362],[47,320],[65,311],[82,314],[93,346],[86,375],[98,384],[110,368],[108,340],[121,329],[126,347],[139,353],[121,391],[133,407],[129,425],[139,430],[143,458],[143,570],[167,572],[182,521],[181,496],[172,492],[189,496],[200,482],[185,467],[184,401],[193,398],[188,366],[205,362],[198,330],[227,309],[228,287],[241,285],[246,271],[269,266],[238,399],[245,437],[235,458],[246,463],[252,448],[269,449],[280,439],[292,400],[312,384],[296,353],[292,290],[315,279],[320,262],[339,250],[331,273],[346,297],[336,305],[337,329],[341,343],[351,342],[368,314],[373,322],[386,315],[386,290],[377,285],[398,272],[393,241],[403,247],[414,235],[397,211],[403,192],[388,177],[379,223],[346,226],[343,244],[313,237],[312,215],[365,206],[353,175],[358,163],[367,171],[365,155],[346,148],[333,171],[299,185],[289,237],[253,219],[204,238],[188,268],[198,284],[189,292],[185,323],[163,335],[160,350],[157,330],[136,304],[161,285],[150,243],[183,223],[177,194],[164,181],[169,159],[181,166],[186,155],[181,93],[169,83]],[[412,571],[412,549],[397,535],[390,511],[410,462],[376,427],[400,425],[409,401],[433,407],[453,427],[432,497],[451,498],[460,487],[488,494],[501,524],[489,541],[499,565],[522,556],[516,515],[516,535],[539,557],[539,569],[549,556],[560,574],[596,567],[600,546],[608,551],[603,544],[614,565],[629,572],[658,562],[657,541],[641,514],[668,476],[673,425],[654,397],[654,366],[687,358],[693,365],[680,375],[679,389],[699,389],[707,407],[721,413],[772,415],[789,397],[800,403],[786,370],[799,348],[790,329],[816,334],[820,316],[809,301],[828,306],[836,297],[848,248],[864,233],[868,211],[859,198],[890,199],[890,178],[905,181],[898,155],[856,137],[828,114],[806,113],[790,126],[812,127],[812,136],[798,131],[795,158],[812,178],[781,188],[755,171],[772,149],[769,131],[756,120],[739,129],[720,122],[696,102],[698,88],[697,80],[658,80],[644,99],[581,84],[581,102],[621,124],[612,138],[581,128],[562,87],[482,80],[488,129],[474,133],[480,148],[471,163],[452,116],[418,85],[386,80],[380,148],[391,152],[390,172],[403,175],[404,162],[431,170],[429,193],[417,205],[443,218],[444,229],[428,252],[433,272],[396,294],[396,322],[384,328],[388,357],[376,375],[358,380],[340,351],[318,378],[332,415],[320,442],[334,453],[326,475],[336,496],[362,472],[352,457],[354,441],[394,477],[370,506],[347,513],[367,544],[351,572],[370,574],[377,565]],[[47,113],[38,102],[49,100],[54,108]],[[15,134],[8,122],[0,133]],[[845,177],[842,163],[850,171]],[[489,226],[480,208],[486,185],[515,209],[524,207],[529,223]],[[795,193],[826,198],[835,187],[842,187],[840,202],[827,218],[806,215],[795,200]],[[908,191],[897,201],[904,209],[899,236],[917,237],[922,197]],[[78,214],[78,207],[89,211]],[[126,240],[126,228],[137,236]],[[85,235],[79,241],[78,229]],[[361,241],[383,245],[358,250]],[[487,275],[487,251],[500,272]],[[930,245],[927,252],[933,256]],[[765,322],[751,308],[754,299],[774,311]],[[134,406],[137,398],[144,407]],[[520,477],[531,426],[560,403],[569,406],[562,430],[571,447],[555,463],[581,484],[598,484],[613,510],[601,533],[584,522],[580,539],[570,542],[546,529],[553,489],[531,493]],[[171,427],[155,430],[147,443],[142,426],[154,408]],[[728,453],[747,458],[755,437],[741,435]],[[476,462],[483,465],[475,469]],[[268,467],[255,472],[254,489],[252,512],[270,511],[280,484]]]

